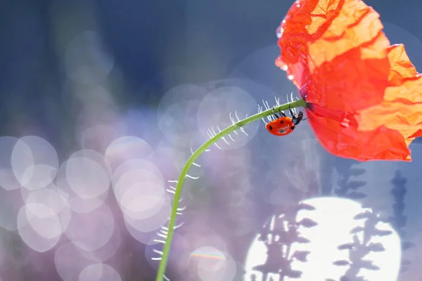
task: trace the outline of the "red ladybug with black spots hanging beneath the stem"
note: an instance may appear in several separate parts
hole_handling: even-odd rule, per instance
[[[267,125],[265,125],[265,128],[272,133],[274,136],[286,136],[289,133],[293,132],[295,130],[296,125],[300,123],[303,119],[303,112],[300,111],[297,114],[293,114],[293,111],[289,108],[290,115],[292,115],[292,118],[286,116],[284,112],[279,112],[281,117],[274,112],[273,107],[273,114],[276,118],[274,118],[273,121],[269,122]]]

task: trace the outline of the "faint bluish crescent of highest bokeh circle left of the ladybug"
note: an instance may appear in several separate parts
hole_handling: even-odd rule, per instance
[[[167,141],[189,146],[198,138],[197,112],[207,94],[203,87],[185,84],[171,89],[158,105],[158,127]]]

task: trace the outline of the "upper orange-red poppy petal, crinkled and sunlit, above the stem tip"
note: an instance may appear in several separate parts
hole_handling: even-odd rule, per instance
[[[388,86],[383,25],[360,0],[296,1],[281,24],[276,65],[307,84],[307,100],[332,110],[354,111],[383,100]]]

